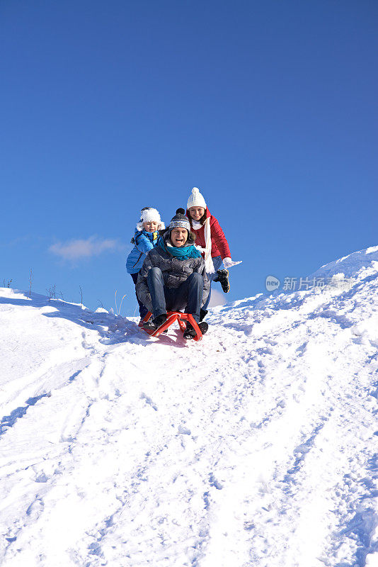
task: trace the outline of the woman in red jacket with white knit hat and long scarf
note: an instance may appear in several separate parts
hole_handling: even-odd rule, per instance
[[[205,199],[200,190],[193,187],[188,198],[186,216],[190,222],[190,228],[195,234],[195,246],[200,248],[202,256],[205,259],[205,267],[210,283],[219,281],[224,293],[230,290],[228,266],[231,264],[231,252],[229,251],[229,243],[224,236],[222,228],[217,219],[210,214]],[[219,269],[223,262],[224,269]],[[209,305],[211,288],[209,297],[201,310],[201,318],[203,319],[207,313],[207,305]]]

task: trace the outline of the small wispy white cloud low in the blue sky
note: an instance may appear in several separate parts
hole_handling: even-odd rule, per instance
[[[102,252],[114,252],[122,249],[118,240],[110,240],[91,236],[86,240],[69,240],[69,242],[57,242],[50,246],[53,254],[64,260],[78,260],[98,256]]]

